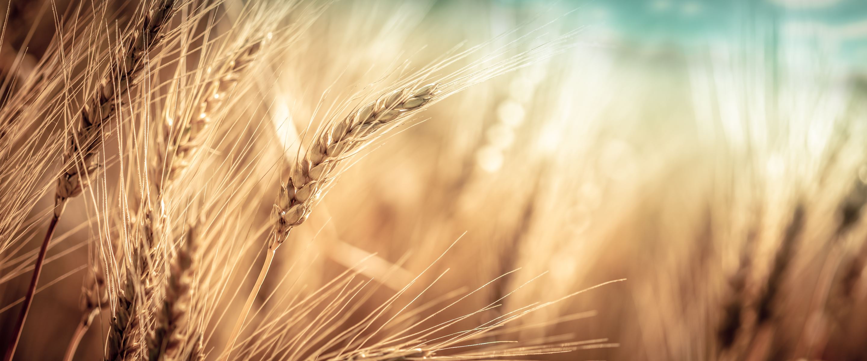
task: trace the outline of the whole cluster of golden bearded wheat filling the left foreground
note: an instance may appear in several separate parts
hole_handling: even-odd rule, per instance
[[[432,324],[442,311],[431,307],[448,299],[414,302],[420,294],[410,287],[418,277],[384,298],[381,286],[358,281],[357,268],[313,291],[261,291],[275,282],[272,264],[291,256],[278,248],[309,242],[295,241],[290,231],[316,212],[359,154],[407,129],[434,103],[570,48],[574,33],[529,48],[532,35],[521,34],[459,47],[424,67],[397,61],[378,70],[387,74],[380,80],[355,84],[349,96],[323,92],[314,112],[321,121],[311,119],[296,139],[277,145],[268,119],[277,103],[291,100],[263,100],[261,75],[303,56],[299,39],[339,4],[47,3],[42,10],[54,19],[54,38],[32,68],[6,77],[0,103],[0,282],[29,277],[22,299],[3,309],[17,311],[14,325],[3,325],[10,337],[0,343],[4,360],[16,359],[25,327],[51,327],[33,324],[29,310],[46,287],[39,280],[54,259],[49,249],[68,238],[55,233],[63,223],[69,232],[89,229],[81,243],[88,259],[71,270],[86,274],[80,321],[66,338],[42,342],[64,347],[66,360],[88,332],[102,331],[94,327],[102,319],[108,360],[512,359],[613,346],[601,338],[501,339],[531,327],[516,320],[562,299],[490,313],[505,292],[478,311]],[[23,68],[26,48],[16,55],[11,68]],[[275,147],[283,155],[267,158]],[[289,165],[277,179],[258,176],[280,164]],[[53,204],[39,202],[46,195]],[[242,222],[271,200],[270,224]],[[41,248],[22,252],[34,237]],[[255,272],[240,266],[248,248],[264,257],[252,261],[261,269],[252,284],[244,280]],[[385,270],[394,272],[405,271]],[[365,313],[367,300],[381,303]],[[272,304],[278,306],[263,306]],[[495,316],[458,327],[480,314]]]

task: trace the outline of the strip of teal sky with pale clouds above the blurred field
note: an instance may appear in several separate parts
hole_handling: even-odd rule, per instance
[[[520,6],[541,0],[501,0]],[[646,44],[745,42],[776,32],[842,63],[867,64],[867,0],[566,0],[581,21]],[[751,40],[752,39],[752,40]]]

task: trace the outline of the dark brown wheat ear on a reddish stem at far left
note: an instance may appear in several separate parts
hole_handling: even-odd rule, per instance
[[[57,221],[65,209],[66,201],[68,198],[80,195],[87,188],[91,173],[100,167],[94,164],[94,157],[101,144],[102,128],[116,112],[121,96],[127,92],[137,75],[145,68],[142,59],[162,38],[160,30],[173,16],[174,5],[175,0],[162,0],[150,15],[142,17],[140,26],[133,35],[129,36],[117,58],[110,64],[108,73],[101,79],[93,95],[78,113],[79,127],[74,134],[67,137],[67,147],[63,152],[65,169],[57,180],[54,216],[42,240],[42,248],[36,256],[36,267],[33,269],[33,277],[27,295],[24,297],[21,312],[18,314],[16,327],[12,332],[11,347],[3,358],[5,361],[11,361],[12,356],[15,355],[18,339],[21,338],[33,294],[36,292],[39,274],[42,272],[42,261],[48,251]]]

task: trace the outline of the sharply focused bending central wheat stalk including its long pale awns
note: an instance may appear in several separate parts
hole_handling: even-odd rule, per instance
[[[568,36],[560,40],[565,39],[568,39]],[[556,42],[552,42],[549,46],[553,47],[555,44]],[[436,63],[430,68],[421,70],[419,74],[410,76],[409,79],[416,81],[425,79],[473,51],[471,49]],[[319,132],[316,132],[313,144],[294,162],[289,181],[280,186],[280,193],[274,204],[275,225],[268,239],[265,260],[251,293],[241,308],[238,320],[232,328],[229,342],[226,343],[223,351],[223,359],[231,358],[231,351],[271,268],[277,248],[286,240],[291,229],[301,225],[310,216],[316,203],[340,175],[342,161],[351,158],[395,127],[404,124],[407,115],[418,113],[417,111],[433,102],[473,84],[521,68],[552,54],[544,55],[545,51],[544,47],[537,48],[473,72],[470,69],[479,65],[480,61],[477,61],[476,64],[461,68],[453,74],[440,78],[440,81],[434,81],[423,87],[415,89],[399,87],[381,95],[378,100],[355,109],[343,119],[327,122]]]

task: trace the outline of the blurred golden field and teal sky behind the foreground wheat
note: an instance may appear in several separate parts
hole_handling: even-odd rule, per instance
[[[43,6],[11,1],[0,54],[28,42],[39,58],[55,31]],[[265,293],[315,289],[361,261],[363,277],[396,291],[433,264],[419,287],[449,271],[423,300],[496,279],[437,318],[503,302],[478,324],[625,278],[529,314],[522,323],[542,326],[518,338],[619,344],[544,359],[867,359],[861,0],[337,1],[293,49],[303,56],[261,70],[257,92],[268,101],[243,112],[269,126],[258,140],[266,151],[246,160],[260,166],[264,196],[233,215],[250,229],[270,224],[282,166],[273,164],[295,154],[298,129],[321,120],[329,89],[352,93],[461,42],[514,55],[576,30],[575,46],[438,103],[365,154],[272,268],[302,281],[275,277]],[[237,119],[250,119],[243,112]],[[245,136],[232,129],[223,132]],[[84,272],[70,271],[85,269],[94,236],[80,217],[59,226],[68,237],[49,252],[41,285],[56,283],[37,294],[20,359],[59,358],[62,347],[28,339],[66,339],[80,317]],[[249,242],[244,267],[262,249]],[[3,256],[0,306],[29,280],[13,272],[15,255]],[[231,282],[251,280],[242,272]],[[0,324],[15,310],[3,308]],[[68,327],[37,327],[55,318]],[[80,359],[101,355],[98,329]],[[214,332],[218,345],[225,335]]]

